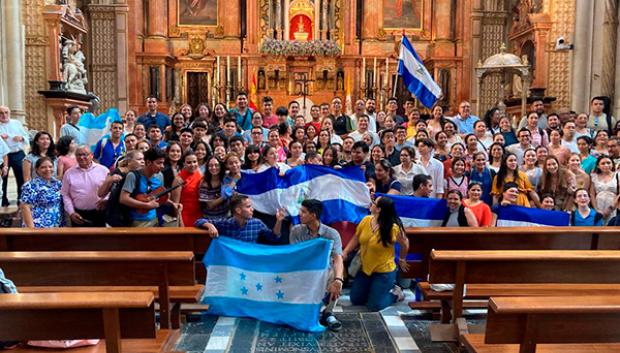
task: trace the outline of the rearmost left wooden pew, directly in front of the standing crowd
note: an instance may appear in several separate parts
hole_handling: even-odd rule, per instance
[[[197,228],[8,228],[0,232],[0,251],[191,251],[196,280],[205,283],[202,258],[211,237]]]

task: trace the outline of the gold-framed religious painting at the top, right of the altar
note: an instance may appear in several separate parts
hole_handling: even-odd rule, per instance
[[[385,30],[423,30],[428,0],[383,0]]]

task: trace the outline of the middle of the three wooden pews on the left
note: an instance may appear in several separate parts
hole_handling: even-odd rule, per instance
[[[170,286],[193,286],[191,252],[0,252],[18,286],[156,286],[162,328],[170,328]]]

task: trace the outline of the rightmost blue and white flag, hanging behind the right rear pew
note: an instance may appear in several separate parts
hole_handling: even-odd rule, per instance
[[[570,214],[562,211],[547,211],[523,206],[498,206],[493,211],[497,214],[497,227],[566,227]]]

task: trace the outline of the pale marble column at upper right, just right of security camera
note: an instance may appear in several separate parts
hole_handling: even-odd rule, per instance
[[[594,1],[577,1],[576,6],[571,108],[582,112],[587,111],[590,96]]]

